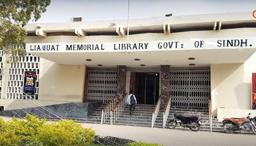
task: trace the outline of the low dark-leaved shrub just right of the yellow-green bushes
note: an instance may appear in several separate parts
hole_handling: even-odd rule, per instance
[[[125,138],[110,137],[110,136],[101,137],[99,135],[96,135],[94,142],[98,143],[97,141],[102,143],[103,145],[121,145],[121,146],[127,146],[128,143],[135,142],[133,140],[125,139]]]

